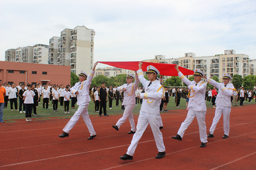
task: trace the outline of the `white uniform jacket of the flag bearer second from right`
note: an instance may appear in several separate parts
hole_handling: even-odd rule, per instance
[[[197,86],[195,86],[195,81],[189,81],[181,72],[178,72],[181,80],[188,85],[188,89],[190,89],[189,93],[189,103],[188,109],[192,109],[198,112],[205,112],[206,103],[205,103],[205,91],[206,91],[206,83],[203,81],[198,82]]]

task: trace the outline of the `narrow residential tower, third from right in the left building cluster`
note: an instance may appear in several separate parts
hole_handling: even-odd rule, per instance
[[[49,64],[57,65],[57,58],[58,58],[58,39],[60,37],[51,37],[49,40],[49,56],[48,62]]]

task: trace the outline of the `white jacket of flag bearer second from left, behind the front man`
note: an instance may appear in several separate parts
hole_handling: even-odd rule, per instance
[[[134,83],[131,83],[129,85],[124,84],[116,88],[120,92],[122,92],[123,88],[126,89],[126,91],[124,92],[124,100],[122,102],[122,105],[130,105],[130,104],[135,105],[135,92],[139,85],[139,82],[140,81],[137,78],[135,78]]]

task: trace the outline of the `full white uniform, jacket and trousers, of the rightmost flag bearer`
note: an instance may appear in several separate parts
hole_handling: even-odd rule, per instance
[[[232,106],[230,101],[230,96],[233,95],[233,90],[235,89],[235,87],[231,83],[228,83],[225,87],[224,83],[218,83],[211,78],[207,78],[206,81],[207,83],[219,89],[218,95],[215,100],[216,109],[215,109],[214,118],[212,120],[212,126],[210,127],[210,133],[213,134],[215,127],[217,126],[218,121],[220,120],[221,115],[223,113],[224,134],[229,135],[230,111]]]

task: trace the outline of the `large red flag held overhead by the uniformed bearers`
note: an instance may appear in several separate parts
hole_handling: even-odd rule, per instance
[[[118,67],[121,69],[129,69],[137,71],[139,69],[139,62],[140,61],[98,61],[98,63],[108,64],[110,66]],[[167,76],[178,76],[177,70],[174,68],[176,64],[165,64],[165,63],[150,63],[150,62],[143,62],[142,64],[142,71],[147,71],[147,66],[154,66],[160,72],[160,75],[167,75]],[[192,75],[194,74],[193,70],[185,69],[179,66],[180,72],[183,75]]]

